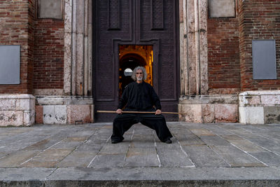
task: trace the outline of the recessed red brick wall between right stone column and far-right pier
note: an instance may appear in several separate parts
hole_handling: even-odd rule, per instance
[[[207,31],[209,92],[220,90],[216,93],[223,94],[225,90],[226,93],[239,90],[238,18],[209,18]]]

